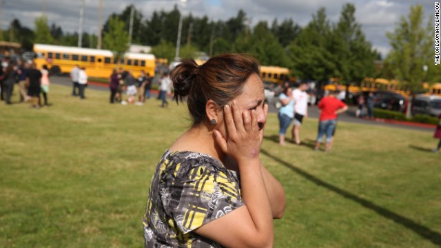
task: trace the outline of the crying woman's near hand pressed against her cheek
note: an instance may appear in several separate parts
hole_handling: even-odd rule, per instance
[[[268,108],[268,107],[266,107]],[[238,165],[259,159],[263,128],[259,130],[256,110],[240,113],[237,103],[224,107],[224,120],[227,126],[227,138],[214,130],[215,140],[225,154],[234,158]]]

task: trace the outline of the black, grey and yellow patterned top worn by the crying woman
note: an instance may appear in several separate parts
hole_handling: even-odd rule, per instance
[[[150,185],[145,247],[222,247],[194,229],[245,205],[236,172],[212,156],[165,151]]]

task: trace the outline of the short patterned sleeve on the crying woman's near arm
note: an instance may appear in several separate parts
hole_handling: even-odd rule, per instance
[[[161,189],[167,216],[183,234],[245,205],[239,181],[227,169],[207,165],[209,160],[185,161],[176,180]]]

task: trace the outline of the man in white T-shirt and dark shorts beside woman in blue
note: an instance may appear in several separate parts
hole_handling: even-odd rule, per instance
[[[294,126],[291,130],[292,140],[300,145],[300,126],[303,118],[308,117],[308,85],[306,82],[300,83],[298,88],[292,92],[294,98]]]

